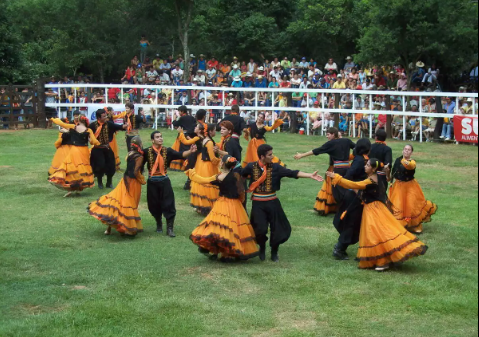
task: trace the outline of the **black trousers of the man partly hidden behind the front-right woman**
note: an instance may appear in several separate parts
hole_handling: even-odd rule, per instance
[[[364,206],[357,194],[346,190],[343,201],[334,217],[334,227],[339,233],[338,242],[341,249],[346,250],[349,246],[359,242],[363,211]]]

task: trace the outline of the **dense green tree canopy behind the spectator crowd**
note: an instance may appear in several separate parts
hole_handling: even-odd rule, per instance
[[[5,0],[0,34],[0,83],[118,80],[142,35],[150,56],[351,55],[457,73],[477,61],[478,10],[470,0]]]

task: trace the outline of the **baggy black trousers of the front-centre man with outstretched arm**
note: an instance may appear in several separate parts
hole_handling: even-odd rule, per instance
[[[253,201],[251,225],[254,228],[256,241],[259,245],[265,245],[268,242],[269,227],[271,227],[271,247],[278,247],[291,237],[291,224],[278,199]]]

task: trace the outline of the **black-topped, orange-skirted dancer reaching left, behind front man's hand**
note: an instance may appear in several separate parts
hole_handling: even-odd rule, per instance
[[[326,137],[328,138],[326,144],[307,153],[298,153],[294,159],[301,160],[312,155],[328,154],[330,162],[328,171],[344,176],[350,167],[349,158],[351,150],[356,147],[356,144],[350,139],[340,138],[337,128],[329,128],[326,132]],[[320,215],[334,213],[337,209],[337,204],[342,201],[343,194],[344,189],[339,187],[333,188],[331,182],[326,177],[325,183],[316,198],[315,210]]]

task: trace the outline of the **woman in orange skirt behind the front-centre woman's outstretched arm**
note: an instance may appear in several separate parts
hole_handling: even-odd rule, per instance
[[[198,153],[198,159],[195,171],[200,177],[212,177],[219,173],[220,159],[216,157],[216,143],[213,137],[216,135],[216,125],[210,124],[206,129],[203,124],[198,124],[195,129],[196,135],[204,138],[202,142],[201,152]],[[206,184],[201,185],[195,182],[191,183],[190,199],[191,206],[202,215],[208,215],[213,208],[214,203],[218,200],[219,189],[217,186]]]

